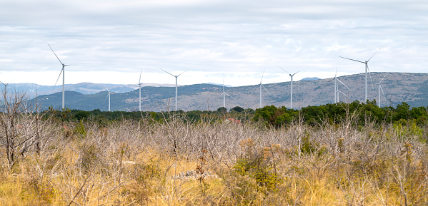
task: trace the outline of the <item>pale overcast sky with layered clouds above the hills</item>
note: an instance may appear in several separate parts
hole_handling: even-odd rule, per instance
[[[428,68],[426,0],[0,0],[0,81],[224,83]],[[374,80],[375,81],[375,80]],[[60,83],[60,82],[59,82]]]

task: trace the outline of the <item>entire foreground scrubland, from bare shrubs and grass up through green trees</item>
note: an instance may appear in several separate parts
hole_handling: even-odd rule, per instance
[[[4,100],[0,205],[428,204],[426,122],[367,104],[76,120]]]

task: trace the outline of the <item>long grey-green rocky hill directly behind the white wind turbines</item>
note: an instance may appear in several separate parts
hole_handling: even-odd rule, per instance
[[[428,105],[428,73],[371,73],[373,84],[369,81],[369,99],[378,98],[378,83],[384,76],[382,88],[386,99],[382,96],[382,106],[396,106],[407,102],[412,106]],[[351,102],[364,100],[364,73],[340,76],[340,81],[349,88],[339,84],[340,101]],[[294,108],[307,105],[324,105],[333,103],[334,78],[318,79],[314,81],[295,81],[293,83]],[[262,105],[277,105],[290,107],[290,82],[265,84],[265,88],[271,93],[262,91]],[[226,96],[227,108],[241,106],[243,108],[259,107],[259,85],[239,86],[225,88],[232,96]],[[342,94],[343,93],[343,94]],[[179,86],[179,109],[181,110],[216,110],[223,106],[222,86],[214,84],[195,84]],[[106,91],[93,94],[82,94],[74,91],[66,91],[66,107],[80,110],[108,109]],[[346,96],[345,96],[346,95]],[[133,111],[139,108],[139,90],[111,95],[111,110]],[[168,110],[174,108],[174,87],[144,86],[141,88],[141,106],[143,110]],[[39,96],[42,108],[50,105],[54,108],[61,107],[61,93]]]

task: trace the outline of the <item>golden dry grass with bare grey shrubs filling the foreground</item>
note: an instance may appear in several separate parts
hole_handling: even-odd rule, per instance
[[[67,138],[64,138],[66,131],[59,128],[51,133],[55,140],[41,153],[28,153],[10,169],[2,159],[0,205],[426,205],[428,202],[427,146],[412,137],[404,143],[394,140],[391,132],[392,140],[378,141],[367,139],[359,130],[337,135],[343,128],[331,128],[325,133],[335,134],[334,138],[317,138],[323,135],[319,130],[302,127],[309,133],[314,150],[299,156],[293,128],[259,130],[247,125],[184,123],[137,128],[135,125],[124,122],[101,130],[89,124],[85,125],[86,136],[74,134]],[[73,126],[69,128],[72,130]],[[174,146],[174,138],[182,142]],[[348,138],[340,140],[344,141],[341,147],[347,147],[343,151],[332,144],[341,138]],[[237,172],[237,160],[257,160],[254,163],[259,165],[251,166],[242,175]],[[256,170],[257,167],[269,169]],[[180,172],[198,168],[217,176],[176,177]],[[260,178],[257,171],[267,172],[267,181],[277,181],[274,187],[258,182],[264,179],[257,179]],[[274,173],[279,179],[269,179],[274,178],[269,176]]]

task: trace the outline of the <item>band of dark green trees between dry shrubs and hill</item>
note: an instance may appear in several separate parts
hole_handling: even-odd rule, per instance
[[[99,109],[85,110],[49,110],[44,111],[49,116],[54,116],[57,120],[97,120],[99,122],[108,122],[116,120],[139,120],[149,118],[156,121],[169,120],[174,118],[183,118],[186,121],[214,122],[225,120],[226,118],[235,118],[246,121],[262,121],[266,125],[281,127],[294,122],[301,122],[307,125],[321,125],[322,123],[339,123],[351,116],[354,117],[354,123],[364,125],[367,122],[382,124],[396,123],[397,121],[412,120],[417,125],[427,123],[428,107],[413,107],[403,102],[396,107],[379,107],[375,100],[367,102],[353,101],[352,103],[329,103],[326,105],[309,105],[300,109],[290,109],[285,106],[267,105],[264,108],[244,109],[234,107],[230,110],[221,107],[217,110],[191,110],[191,111],[101,111]]]

